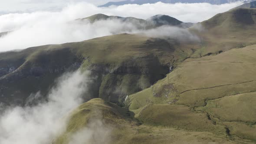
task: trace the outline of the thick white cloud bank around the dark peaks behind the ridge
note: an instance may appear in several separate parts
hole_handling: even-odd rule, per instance
[[[133,16],[142,19],[147,19],[157,14],[165,14],[183,22],[196,23],[207,20],[217,13],[225,12],[240,4],[240,2],[222,5],[211,5],[209,3],[154,3],[99,8],[90,3],[71,3],[56,12],[10,13],[0,16],[0,32],[11,31],[7,35],[0,37],[0,51],[25,49],[46,44],[79,42],[118,33],[152,33],[152,31],[141,31],[132,23],[123,23],[118,20],[98,21],[96,23],[81,23],[76,20],[97,13],[124,17]],[[164,29],[168,28],[164,27]],[[160,31],[164,32],[164,29]],[[155,30],[154,34],[161,35],[161,33],[157,32],[158,30]],[[171,32],[165,33],[165,35],[179,33],[177,29]]]

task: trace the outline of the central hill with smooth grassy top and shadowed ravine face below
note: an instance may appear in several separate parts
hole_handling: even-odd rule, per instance
[[[112,102],[162,79],[174,61],[174,48],[167,41],[140,35],[105,36],[76,44],[77,53],[89,58],[82,66],[104,74],[99,97]]]

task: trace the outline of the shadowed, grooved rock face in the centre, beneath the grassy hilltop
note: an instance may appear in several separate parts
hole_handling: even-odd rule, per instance
[[[136,62],[136,61],[142,62]],[[119,65],[91,64],[88,68],[94,78],[89,85],[93,98],[122,104],[127,95],[149,88],[169,72],[154,56],[131,59]]]

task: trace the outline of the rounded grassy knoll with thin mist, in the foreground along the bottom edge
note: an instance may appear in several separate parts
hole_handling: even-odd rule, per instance
[[[196,114],[194,117],[199,115]],[[210,123],[209,121],[209,125]],[[76,137],[79,134],[81,137]],[[75,109],[69,116],[65,132],[56,138],[53,144],[69,144],[74,141],[79,141],[80,144],[239,144],[241,142],[239,139],[230,141],[225,134],[220,136],[211,132],[141,124],[133,118],[132,112],[128,109],[99,98],[92,99]]]

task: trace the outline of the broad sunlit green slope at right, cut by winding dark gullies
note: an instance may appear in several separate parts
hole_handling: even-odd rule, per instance
[[[256,141],[255,56],[253,45],[187,59],[151,88],[129,95],[125,103],[135,111],[135,117],[146,123],[217,132],[196,116],[203,112],[201,116],[228,128],[230,135]],[[169,121],[169,117],[178,122]]]

